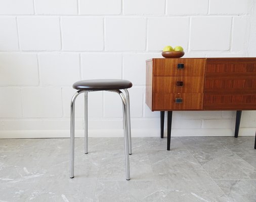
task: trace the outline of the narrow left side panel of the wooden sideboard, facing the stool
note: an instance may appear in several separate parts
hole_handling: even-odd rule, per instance
[[[152,111],[153,61],[146,62],[146,104]]]

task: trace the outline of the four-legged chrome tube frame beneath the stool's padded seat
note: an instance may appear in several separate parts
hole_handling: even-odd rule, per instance
[[[123,130],[124,130],[124,153],[125,153],[125,171],[126,180],[130,180],[130,162],[129,155],[132,154],[131,142],[131,120],[130,120],[130,96],[127,89],[107,90],[117,92],[122,100],[123,109]],[[78,90],[71,99],[71,116],[70,116],[70,178],[74,177],[74,120],[75,120],[75,99],[84,93],[84,154],[88,154],[88,92],[96,90]],[[100,91],[100,90],[99,90]]]

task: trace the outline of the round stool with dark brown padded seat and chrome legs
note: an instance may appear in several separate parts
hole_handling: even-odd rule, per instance
[[[124,154],[126,180],[130,180],[129,154],[132,154],[131,142],[131,120],[130,120],[130,98],[127,88],[133,86],[131,81],[121,79],[94,79],[77,81],[73,88],[78,90],[71,99],[70,116],[70,178],[74,177],[74,119],[75,119],[75,99],[80,93],[84,93],[84,153],[88,154],[88,92],[107,90],[117,92],[122,100],[123,109],[123,130],[124,130]],[[125,95],[120,91],[123,89]]]

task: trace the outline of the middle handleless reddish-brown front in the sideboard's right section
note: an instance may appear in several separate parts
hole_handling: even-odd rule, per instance
[[[204,92],[217,94],[253,94],[256,92],[256,77],[207,77],[205,79]]]

